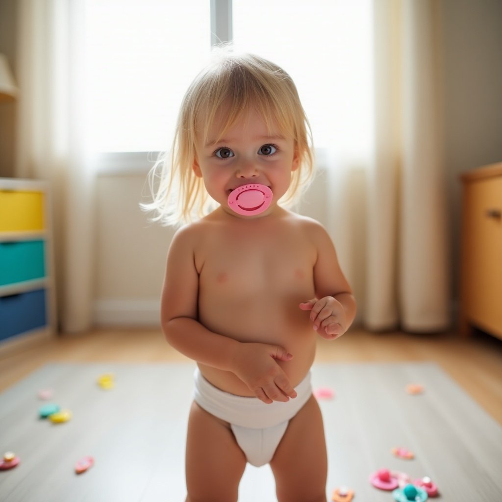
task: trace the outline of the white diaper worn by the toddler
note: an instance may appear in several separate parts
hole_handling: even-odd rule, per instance
[[[312,395],[310,372],[295,391],[298,394],[295,399],[266,404],[258,398],[223,392],[211,385],[199,368],[195,370],[195,402],[211,415],[230,424],[247,461],[257,467],[272,460],[289,421]]]

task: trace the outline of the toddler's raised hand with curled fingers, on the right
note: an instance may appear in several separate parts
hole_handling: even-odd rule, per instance
[[[326,340],[335,340],[347,330],[345,310],[342,304],[332,296],[320,300],[314,298],[300,303],[302,310],[310,310],[310,320],[314,323],[314,331]]]

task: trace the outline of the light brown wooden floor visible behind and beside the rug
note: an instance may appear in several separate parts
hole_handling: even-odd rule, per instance
[[[95,330],[59,336],[8,355],[0,354],[0,392],[48,362],[169,362],[187,360],[159,331]],[[485,411],[502,424],[502,341],[475,332],[411,335],[353,329],[329,342],[319,338],[318,362],[438,363]]]

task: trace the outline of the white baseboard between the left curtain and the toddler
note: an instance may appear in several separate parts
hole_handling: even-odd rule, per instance
[[[96,300],[93,321],[97,326],[160,327],[160,300]]]

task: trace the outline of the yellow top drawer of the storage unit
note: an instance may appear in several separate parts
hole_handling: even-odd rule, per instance
[[[42,192],[0,189],[0,232],[43,230],[44,221]]]

